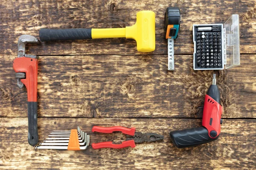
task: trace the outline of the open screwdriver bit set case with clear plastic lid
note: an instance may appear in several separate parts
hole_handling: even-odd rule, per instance
[[[239,15],[223,24],[193,25],[194,70],[222,70],[240,65]]]

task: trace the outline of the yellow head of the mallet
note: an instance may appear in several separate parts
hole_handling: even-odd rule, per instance
[[[139,11],[134,26],[127,26],[125,31],[126,38],[136,40],[138,51],[155,50],[155,14],[153,11]]]

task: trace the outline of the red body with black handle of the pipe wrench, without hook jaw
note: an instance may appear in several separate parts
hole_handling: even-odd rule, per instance
[[[20,81],[26,86],[28,95],[28,119],[29,144],[35,146],[38,143],[38,103],[37,103],[37,83],[38,83],[38,59],[29,57],[15,58],[13,69],[16,73],[25,73],[26,78]]]

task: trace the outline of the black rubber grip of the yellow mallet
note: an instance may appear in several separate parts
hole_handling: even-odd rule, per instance
[[[46,29],[39,31],[39,37],[42,42],[55,40],[84,40],[92,39],[91,28],[73,28],[73,29]]]

